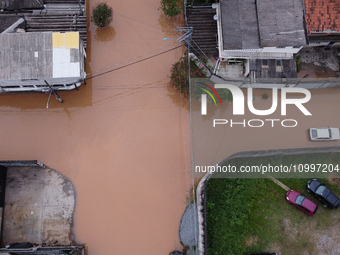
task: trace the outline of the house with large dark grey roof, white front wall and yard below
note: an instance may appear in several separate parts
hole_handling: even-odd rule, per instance
[[[217,69],[243,63],[234,78],[296,78],[294,54],[307,45],[303,0],[221,0],[216,13]]]

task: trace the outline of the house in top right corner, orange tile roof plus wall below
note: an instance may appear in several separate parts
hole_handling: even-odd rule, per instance
[[[310,45],[340,42],[339,1],[305,0],[305,12]]]

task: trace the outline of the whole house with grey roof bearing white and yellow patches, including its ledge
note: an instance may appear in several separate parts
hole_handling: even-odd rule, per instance
[[[0,35],[1,92],[71,90],[86,77],[79,32]]]

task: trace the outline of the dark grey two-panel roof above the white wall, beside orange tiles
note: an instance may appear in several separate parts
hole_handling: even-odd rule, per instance
[[[303,0],[221,0],[225,50],[306,45]]]

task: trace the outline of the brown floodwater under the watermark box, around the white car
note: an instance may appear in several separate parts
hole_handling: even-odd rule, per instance
[[[268,116],[251,113],[247,103],[244,115],[233,115],[233,105],[227,102],[220,108],[208,105],[207,117],[202,117],[200,102],[195,101],[192,146],[195,165],[215,165],[242,151],[340,146],[340,141],[310,141],[308,135],[308,129],[312,127],[340,127],[336,110],[340,107],[340,89],[313,89],[310,92],[311,99],[303,106],[311,115],[304,115],[295,105],[287,105],[286,115],[282,115],[280,92],[276,111]],[[246,97],[247,90],[243,93]],[[262,99],[264,93],[269,96],[267,100]],[[271,89],[253,89],[253,95],[255,109],[271,108]],[[304,95],[288,93],[287,98],[304,98]],[[213,127],[214,119],[227,120],[227,124]]]

